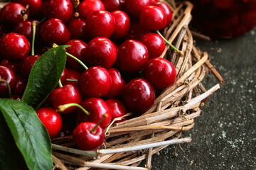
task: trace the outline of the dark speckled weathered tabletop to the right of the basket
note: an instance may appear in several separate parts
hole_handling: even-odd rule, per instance
[[[210,96],[196,118],[189,144],[170,146],[153,157],[153,169],[256,169],[256,28],[231,40],[197,40],[225,85]],[[206,87],[218,83],[208,75]]]

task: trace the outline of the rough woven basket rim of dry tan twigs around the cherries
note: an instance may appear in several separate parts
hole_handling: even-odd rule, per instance
[[[166,45],[161,57],[176,67],[175,84],[162,91],[154,106],[143,115],[112,123],[106,130],[106,141],[97,151],[73,149],[72,136],[52,140],[54,169],[150,169],[151,155],[169,145],[191,142],[190,137],[180,138],[190,130],[194,118],[201,114],[199,106],[219,88],[219,84],[206,91],[201,84],[207,72],[212,72],[223,84],[223,79],[210,64],[207,52],[193,45],[193,33],[188,28],[193,5],[188,1],[167,2],[173,11],[173,21],[163,35],[183,56]],[[138,167],[146,159],[145,167]]]

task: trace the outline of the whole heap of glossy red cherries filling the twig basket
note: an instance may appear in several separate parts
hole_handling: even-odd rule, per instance
[[[0,11],[0,97],[19,100],[36,60],[70,45],[59,86],[36,112],[51,138],[73,134],[80,149],[100,147],[113,120],[146,112],[174,84],[155,32],[171,18],[156,0],[12,0]]]

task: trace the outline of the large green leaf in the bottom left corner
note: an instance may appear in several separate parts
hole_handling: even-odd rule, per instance
[[[52,169],[50,138],[36,111],[9,98],[0,98],[0,111],[28,169]]]

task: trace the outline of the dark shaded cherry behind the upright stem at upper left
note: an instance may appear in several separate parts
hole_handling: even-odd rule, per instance
[[[39,23],[38,21],[33,20],[36,23]],[[24,35],[28,40],[32,40],[33,38],[33,21],[21,21],[19,22],[16,27],[14,28],[15,33],[19,33],[21,35]],[[39,28],[36,26],[36,37],[38,36]]]

